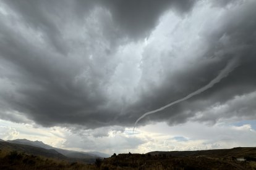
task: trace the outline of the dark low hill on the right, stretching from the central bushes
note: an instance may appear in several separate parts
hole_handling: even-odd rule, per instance
[[[186,152],[119,154],[106,158],[101,169],[256,169],[256,148]],[[243,159],[237,158],[245,158]]]

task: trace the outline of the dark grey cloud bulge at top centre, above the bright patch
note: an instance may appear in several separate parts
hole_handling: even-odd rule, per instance
[[[179,12],[187,12],[194,4],[194,0],[143,0],[143,1],[126,1],[126,0],[107,0],[102,1],[113,15],[117,27],[122,33],[127,34],[133,39],[149,36],[150,32],[158,23],[158,18],[168,10],[174,7]]]

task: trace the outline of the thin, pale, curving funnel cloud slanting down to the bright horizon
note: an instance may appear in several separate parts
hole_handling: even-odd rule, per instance
[[[161,108],[158,108],[156,110],[152,110],[152,111],[148,111],[147,113],[144,113],[142,116],[140,116],[139,119],[137,119],[137,121],[134,124],[134,129],[137,125],[137,123],[145,118],[145,116],[157,113],[158,111],[164,110],[165,108],[171,107],[177,103],[183,102],[184,100],[190,99],[191,97],[193,97],[194,95],[200,94],[204,91],[206,91],[207,89],[210,89],[211,87],[213,87],[216,83],[220,82],[221,79],[223,79],[224,77],[228,76],[229,73],[231,73],[231,71],[234,70],[234,68],[236,68],[238,66],[238,58],[233,58],[231,60],[229,60],[228,64],[226,65],[226,67],[223,68],[223,70],[220,71],[220,74],[218,76],[216,76],[216,78],[212,79],[210,81],[210,83],[208,83],[207,85],[203,86],[202,88],[198,89],[197,91],[194,91],[192,93],[190,93],[189,95],[187,95],[186,97],[183,97],[182,99],[176,100],[172,103],[169,103],[168,105],[165,105]],[[132,133],[134,134],[134,129],[132,130]]]

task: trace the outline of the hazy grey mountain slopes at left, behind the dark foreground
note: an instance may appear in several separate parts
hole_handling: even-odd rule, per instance
[[[96,158],[108,158],[109,155],[101,152],[77,152],[51,147],[41,141],[31,141],[27,139],[1,140],[0,148],[9,148],[18,152],[26,152],[33,155],[47,156],[74,161],[83,161],[88,163],[95,162]],[[71,159],[70,159],[71,158]]]

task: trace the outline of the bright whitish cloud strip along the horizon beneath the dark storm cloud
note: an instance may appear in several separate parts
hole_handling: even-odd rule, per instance
[[[58,148],[113,153],[147,153],[155,150],[205,150],[233,147],[254,147],[255,121],[236,124],[187,122],[177,126],[166,123],[148,124],[136,129],[121,126],[105,127],[108,136],[95,136],[96,129],[70,131],[63,127],[37,128],[30,124],[0,120],[0,138],[4,140],[39,140]],[[247,139],[247,140],[244,140]]]

